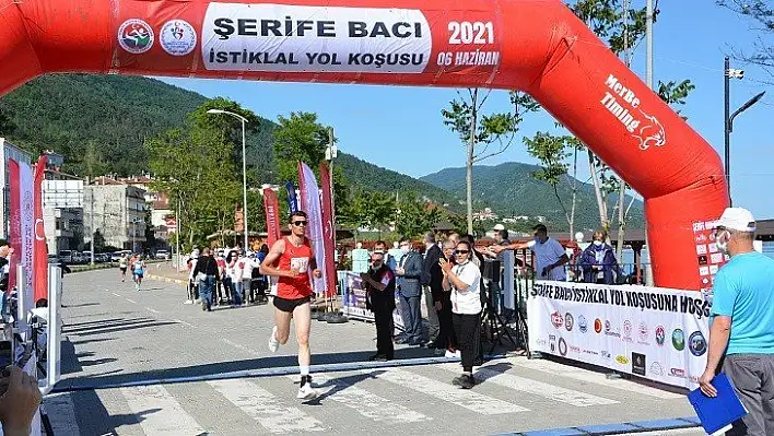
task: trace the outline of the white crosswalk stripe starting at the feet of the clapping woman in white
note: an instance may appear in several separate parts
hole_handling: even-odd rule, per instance
[[[459,373],[459,365],[457,364],[443,364],[438,366],[452,373]],[[558,401],[578,408],[619,403],[619,401],[611,400],[608,398],[597,397],[590,393],[562,388],[560,386],[546,384],[542,381],[533,380],[531,378],[518,377],[512,374],[504,374],[488,368],[485,366],[480,367],[476,372],[474,376],[477,381],[492,382],[508,389],[530,393],[538,397],[543,397],[552,401]]]

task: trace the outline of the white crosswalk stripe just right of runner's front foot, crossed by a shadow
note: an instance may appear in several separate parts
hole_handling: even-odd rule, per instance
[[[298,381],[300,376],[294,374],[288,375],[286,377],[293,381]],[[313,378],[314,381],[312,386],[315,388],[318,396],[325,396],[325,398],[341,403],[360,413],[362,416],[376,422],[406,424],[433,420],[411,409],[396,404],[386,398],[359,388],[354,386],[353,382],[344,380],[343,377],[335,378],[325,373],[315,373],[313,374]]]

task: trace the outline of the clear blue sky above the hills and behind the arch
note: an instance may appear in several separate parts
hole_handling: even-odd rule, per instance
[[[644,0],[634,0],[635,7]],[[701,5],[699,5],[701,4]],[[751,22],[716,7],[714,1],[660,1],[661,14],[654,33],[654,76],[691,79],[691,93],[683,114],[689,123],[723,156],[724,56],[752,46],[757,34]],[[769,42],[774,44],[770,38]],[[731,82],[731,111],[761,91],[766,96],[736,118],[731,134],[731,190],[735,205],[750,209],[757,217],[774,219],[774,200],[762,193],[774,186],[774,76],[754,66],[731,60],[744,69],[743,80]],[[632,69],[645,76],[645,43],[636,49]],[[291,111],[314,111],[336,128],[341,151],[373,164],[420,177],[445,167],[465,164],[464,148],[441,117],[441,109],[456,96],[453,89],[327,85],[162,79],[208,97],[224,96],[255,113],[275,120]],[[486,110],[508,110],[507,93],[492,92]],[[521,126],[521,135],[552,130],[549,115],[536,115]],[[520,138],[506,153],[484,161],[535,163]],[[583,175],[583,177],[580,176]],[[588,170],[582,166],[579,178]]]

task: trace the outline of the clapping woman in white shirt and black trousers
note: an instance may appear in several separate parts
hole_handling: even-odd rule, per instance
[[[462,389],[476,386],[473,361],[481,325],[481,270],[470,261],[471,256],[470,243],[460,240],[455,250],[456,264],[452,266],[444,258],[438,260],[444,272],[444,292],[452,292],[452,321],[462,357],[462,375],[452,382]]]

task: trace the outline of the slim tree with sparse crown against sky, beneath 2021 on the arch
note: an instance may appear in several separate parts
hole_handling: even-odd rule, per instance
[[[523,121],[524,114],[537,111],[539,105],[528,95],[511,93],[513,113],[482,115],[481,109],[492,91],[479,95],[479,89],[468,89],[468,95],[457,91],[459,98],[450,102],[448,109],[442,109],[444,125],[459,135],[467,146],[466,160],[466,203],[468,233],[473,233],[473,165],[485,158],[505,153],[511,146]],[[493,150],[490,150],[490,145]]]

